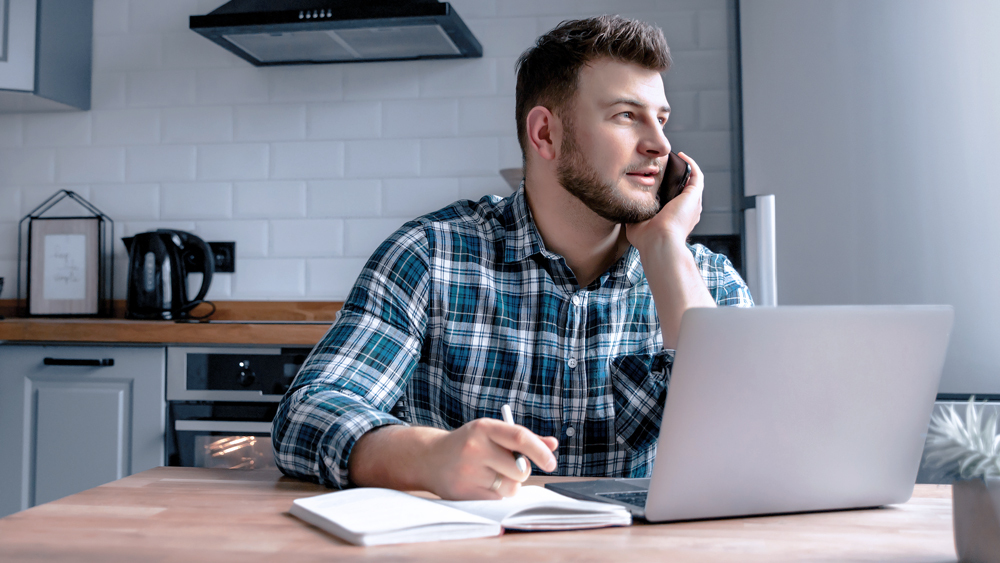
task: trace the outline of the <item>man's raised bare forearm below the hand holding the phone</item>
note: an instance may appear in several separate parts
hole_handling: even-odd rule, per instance
[[[650,245],[640,256],[656,302],[663,347],[676,348],[684,311],[715,307],[715,300],[683,240],[664,237],[661,244]]]

